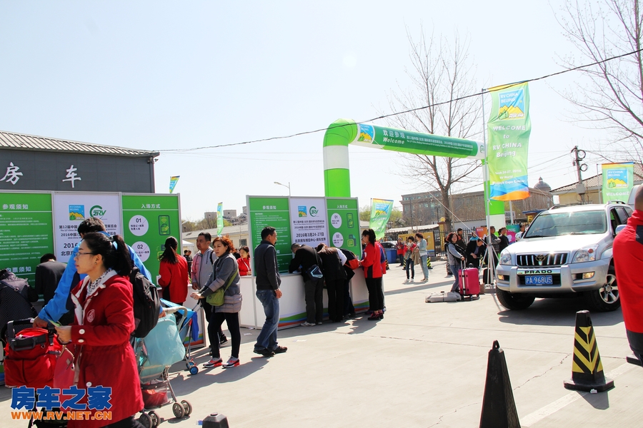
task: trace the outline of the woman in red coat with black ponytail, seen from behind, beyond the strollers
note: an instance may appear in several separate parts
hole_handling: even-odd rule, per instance
[[[187,297],[188,274],[187,261],[182,255],[176,254],[179,241],[170,236],[165,240],[165,251],[159,257],[159,285],[163,287],[163,298],[176,305],[183,305]]]

